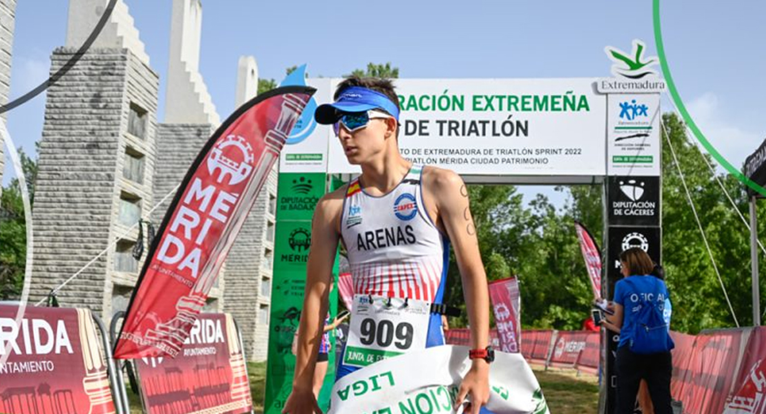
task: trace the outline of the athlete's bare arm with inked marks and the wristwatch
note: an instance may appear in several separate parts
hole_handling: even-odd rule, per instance
[[[453,171],[428,168],[424,184],[433,197],[440,223],[455,250],[457,267],[463,280],[463,296],[466,300],[468,321],[471,328],[473,349],[489,345],[489,288],[479,253],[479,240],[473,224],[468,191],[463,180]],[[424,173],[426,172],[424,171]],[[471,412],[478,414],[489,399],[489,363],[483,359],[472,360],[471,369],[460,384],[456,406],[471,396]]]

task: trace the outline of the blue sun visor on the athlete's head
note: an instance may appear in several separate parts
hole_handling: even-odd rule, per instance
[[[364,112],[370,109],[383,109],[399,120],[399,109],[388,96],[362,86],[348,87],[334,103],[320,105],[314,112],[314,119],[320,124],[333,124],[338,122],[343,112]]]

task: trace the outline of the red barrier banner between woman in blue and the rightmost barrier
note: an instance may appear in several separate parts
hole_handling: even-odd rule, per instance
[[[719,414],[732,392],[749,330],[703,332],[697,335],[689,363],[679,369],[680,386],[673,398],[683,401],[686,414]],[[748,367],[749,368],[749,367]]]

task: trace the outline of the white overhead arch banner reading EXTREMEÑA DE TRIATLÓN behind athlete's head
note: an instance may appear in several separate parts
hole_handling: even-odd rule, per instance
[[[342,79],[309,79],[317,103]],[[606,95],[595,78],[399,79],[405,158],[464,175],[606,175]],[[307,108],[306,110],[309,110]],[[297,128],[297,127],[296,127]],[[303,132],[307,132],[305,129]],[[329,126],[282,154],[282,172],[358,173]],[[326,163],[326,164],[325,164]]]

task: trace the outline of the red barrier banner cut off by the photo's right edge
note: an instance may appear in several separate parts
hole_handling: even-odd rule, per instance
[[[726,401],[724,414],[766,412],[766,328],[755,328],[742,356],[735,393]]]

